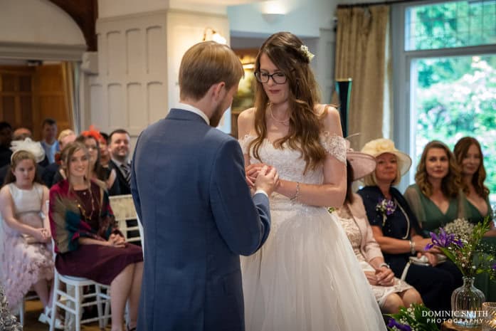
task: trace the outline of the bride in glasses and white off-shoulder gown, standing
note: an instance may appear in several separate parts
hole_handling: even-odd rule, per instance
[[[247,331],[386,330],[339,221],[346,147],[339,113],[317,104],[313,55],[299,38],[275,33],[255,62],[255,107],[238,119],[246,180],[278,169],[265,245],[243,258]]]

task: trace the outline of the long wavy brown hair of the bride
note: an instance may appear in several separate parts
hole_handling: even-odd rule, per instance
[[[287,135],[275,140],[274,146],[282,148],[287,142],[290,148],[299,150],[305,160],[307,169],[315,169],[324,162],[326,153],[320,144],[322,121],[315,114],[314,107],[320,100],[317,82],[310,68],[310,59],[302,51],[303,45],[297,36],[289,32],[278,32],[263,43],[255,61],[255,73],[260,72],[260,56],[265,54],[280,71],[287,76],[289,84],[289,116],[290,127]],[[255,132],[257,138],[249,145],[253,146],[253,154],[260,159],[259,149],[267,135],[265,112],[268,108],[268,97],[262,83],[255,87]],[[325,112],[324,112],[325,114]]]

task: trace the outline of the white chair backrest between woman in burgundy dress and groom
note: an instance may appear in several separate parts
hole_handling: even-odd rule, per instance
[[[119,225],[120,231],[124,234],[126,241],[142,241],[139,231],[138,216],[134,208],[131,194],[110,196],[110,207],[114,212],[115,221]]]

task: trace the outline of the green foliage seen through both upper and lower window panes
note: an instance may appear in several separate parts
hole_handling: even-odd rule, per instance
[[[406,50],[496,44],[496,1],[450,1],[406,10]],[[453,148],[479,140],[485,184],[496,199],[496,54],[422,58],[413,62],[416,159],[431,140]]]

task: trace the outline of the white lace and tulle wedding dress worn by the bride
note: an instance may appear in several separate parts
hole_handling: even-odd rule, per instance
[[[252,135],[241,138],[248,154]],[[342,137],[322,135],[330,154],[346,162]],[[260,160],[280,179],[322,184],[322,167],[305,169],[300,152],[276,149],[268,140]],[[247,331],[379,331],[386,330],[379,306],[339,221],[324,207],[270,197],[271,226],[265,244],[241,258]]]

